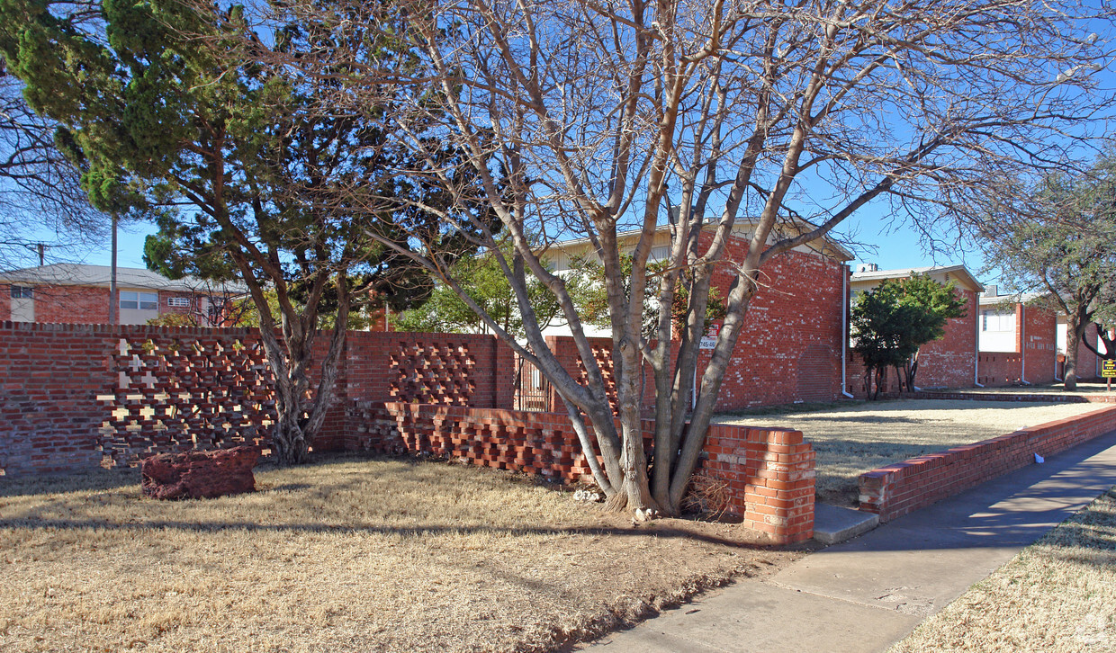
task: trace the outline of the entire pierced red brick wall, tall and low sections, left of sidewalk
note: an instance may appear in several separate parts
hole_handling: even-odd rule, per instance
[[[318,361],[328,344],[316,340]],[[350,333],[314,446],[433,453],[564,481],[589,474],[566,415],[506,409],[512,361],[491,336]],[[0,390],[3,474],[266,446],[275,419],[254,329],[0,323]],[[498,406],[472,407],[483,403]],[[643,429],[650,446],[654,423]],[[744,526],[786,544],[812,537],[814,455],[797,431],[713,425],[703,464],[729,484]]]

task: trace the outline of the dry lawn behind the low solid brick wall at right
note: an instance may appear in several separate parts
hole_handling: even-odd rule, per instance
[[[817,451],[818,498],[855,506],[856,479],[867,471],[1026,426],[1097,411],[1105,404],[896,400],[793,407],[715,421],[801,431]]]

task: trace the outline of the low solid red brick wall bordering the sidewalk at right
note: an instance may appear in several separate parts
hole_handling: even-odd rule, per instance
[[[888,521],[1116,430],[1116,406],[1021,429],[860,474],[860,510]]]

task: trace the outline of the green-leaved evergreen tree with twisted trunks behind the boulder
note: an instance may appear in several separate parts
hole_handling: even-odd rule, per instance
[[[267,52],[344,45],[329,26],[288,18],[257,32],[241,7],[0,2],[3,56],[29,104],[67,131],[94,204],[155,214],[145,253],[161,271],[247,286],[275,376],[273,446],[295,463],[333,401],[349,311],[373,291],[401,306],[420,297],[427,275],[404,256],[414,236],[456,256],[468,231],[441,219],[469,208],[396,174],[421,163],[377,121],[393,88],[341,108],[337,83],[268,64]],[[362,27],[346,36],[375,48],[382,70],[414,73],[397,25],[359,7],[349,18]],[[452,144],[425,155],[455,167]],[[337,201],[357,185],[375,192]],[[335,318],[323,355],[326,311]]]

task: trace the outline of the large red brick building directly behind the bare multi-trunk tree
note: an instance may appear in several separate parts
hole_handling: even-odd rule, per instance
[[[709,247],[712,230],[701,234],[701,248]],[[725,260],[741,261],[751,238],[750,224],[738,224],[725,248]],[[635,248],[637,233],[620,236],[620,246]],[[651,260],[668,256],[670,231],[662,228],[652,246]],[[549,260],[561,273],[578,257],[588,257],[585,240],[558,243]],[[776,257],[761,271],[762,286],[752,299],[740,338],[725,373],[716,410],[786,404],[799,401],[835,401],[844,387],[844,362],[847,357],[846,324],[848,266],[853,255],[829,239],[820,239]],[[713,273],[713,287],[728,297],[733,271],[720,265]],[[715,328],[715,326],[714,326]],[[586,329],[587,335],[610,337],[605,329]],[[568,352],[567,367],[579,357],[568,337],[568,327],[545,332],[554,347]],[[565,344],[562,340],[567,340]],[[608,340],[602,340],[607,344]],[[709,352],[699,358],[699,377],[709,362]],[[653,384],[647,373],[647,386]],[[650,397],[645,395],[645,403]]]

